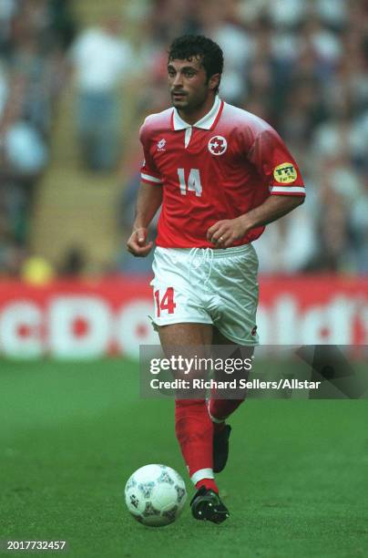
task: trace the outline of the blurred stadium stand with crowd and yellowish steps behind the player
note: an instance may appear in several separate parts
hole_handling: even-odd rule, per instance
[[[92,273],[131,268],[124,253],[130,221],[117,208],[138,187],[139,123],[168,106],[166,49],[191,32],[223,47],[221,96],[269,120],[305,176],[302,210],[257,243],[261,271],[366,274],[367,15],[363,0],[4,0],[0,274],[20,274],[33,253],[63,268],[76,247]],[[116,171],[113,160],[101,172],[86,170],[78,150],[70,68],[76,41],[91,26],[102,32],[111,16],[122,16],[117,41],[131,64],[126,59],[124,76],[116,76],[121,164]]]

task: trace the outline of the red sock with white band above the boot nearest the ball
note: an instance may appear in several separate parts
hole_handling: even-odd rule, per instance
[[[212,423],[204,399],[175,401],[175,431],[189,476],[197,485],[213,480]],[[211,485],[214,490],[213,485]],[[217,488],[216,488],[217,491]]]

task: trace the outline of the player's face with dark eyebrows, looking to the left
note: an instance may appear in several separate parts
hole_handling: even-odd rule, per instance
[[[207,78],[206,70],[196,57],[170,60],[168,75],[172,104],[184,111],[199,109],[216,87],[213,78]]]

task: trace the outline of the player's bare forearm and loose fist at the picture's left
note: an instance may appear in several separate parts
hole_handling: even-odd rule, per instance
[[[148,242],[148,225],[158,212],[162,203],[162,186],[140,182],[136,219],[133,232],[127,242],[128,252],[138,257],[145,257],[152,250],[153,242]]]

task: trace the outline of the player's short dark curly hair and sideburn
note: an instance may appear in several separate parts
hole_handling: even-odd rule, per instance
[[[183,35],[176,38],[169,47],[170,60],[190,60],[199,57],[204,67],[207,79],[214,74],[222,74],[223,53],[219,45],[207,36]],[[220,85],[220,81],[219,81]],[[215,93],[219,87],[215,89]]]

